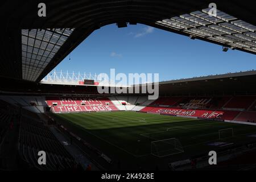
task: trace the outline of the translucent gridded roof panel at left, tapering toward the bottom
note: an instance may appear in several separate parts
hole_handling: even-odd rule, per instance
[[[22,78],[36,81],[53,56],[72,34],[73,28],[22,30]]]

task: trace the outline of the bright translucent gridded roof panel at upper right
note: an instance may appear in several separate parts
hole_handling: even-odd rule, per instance
[[[185,32],[195,38],[213,40],[232,48],[256,53],[256,26],[220,10],[216,11],[216,16],[211,16],[208,14],[209,10],[174,16],[157,21],[156,24]]]

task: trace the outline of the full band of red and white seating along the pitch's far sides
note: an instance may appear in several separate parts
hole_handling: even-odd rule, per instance
[[[2,100],[22,106],[34,113],[44,113],[45,107],[50,107],[53,113],[133,110],[228,121],[234,119],[236,121],[255,121],[253,113],[255,98],[254,96],[159,97],[157,100],[148,100],[146,96],[1,97]],[[250,112],[240,113],[245,110],[250,110]]]

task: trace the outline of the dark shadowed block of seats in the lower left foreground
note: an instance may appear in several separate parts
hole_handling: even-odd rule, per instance
[[[38,151],[46,152],[46,165],[38,164]],[[76,163],[55,136],[42,123],[23,119],[20,125],[19,152],[33,168],[71,169]]]

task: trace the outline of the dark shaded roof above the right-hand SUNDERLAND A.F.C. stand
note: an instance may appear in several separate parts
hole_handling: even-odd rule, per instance
[[[162,95],[179,94],[256,94],[256,71],[226,73],[159,82]]]

